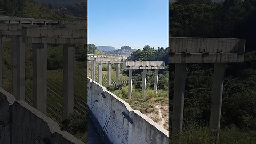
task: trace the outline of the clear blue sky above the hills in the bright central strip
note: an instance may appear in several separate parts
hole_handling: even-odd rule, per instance
[[[168,1],[89,0],[88,43],[117,49],[168,47]]]

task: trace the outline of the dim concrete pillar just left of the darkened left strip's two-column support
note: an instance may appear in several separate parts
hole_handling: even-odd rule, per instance
[[[25,101],[25,43],[21,36],[12,36],[12,86],[14,97]]]

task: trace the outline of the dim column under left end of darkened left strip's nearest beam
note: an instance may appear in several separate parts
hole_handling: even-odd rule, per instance
[[[33,44],[33,106],[47,113],[47,44]]]

